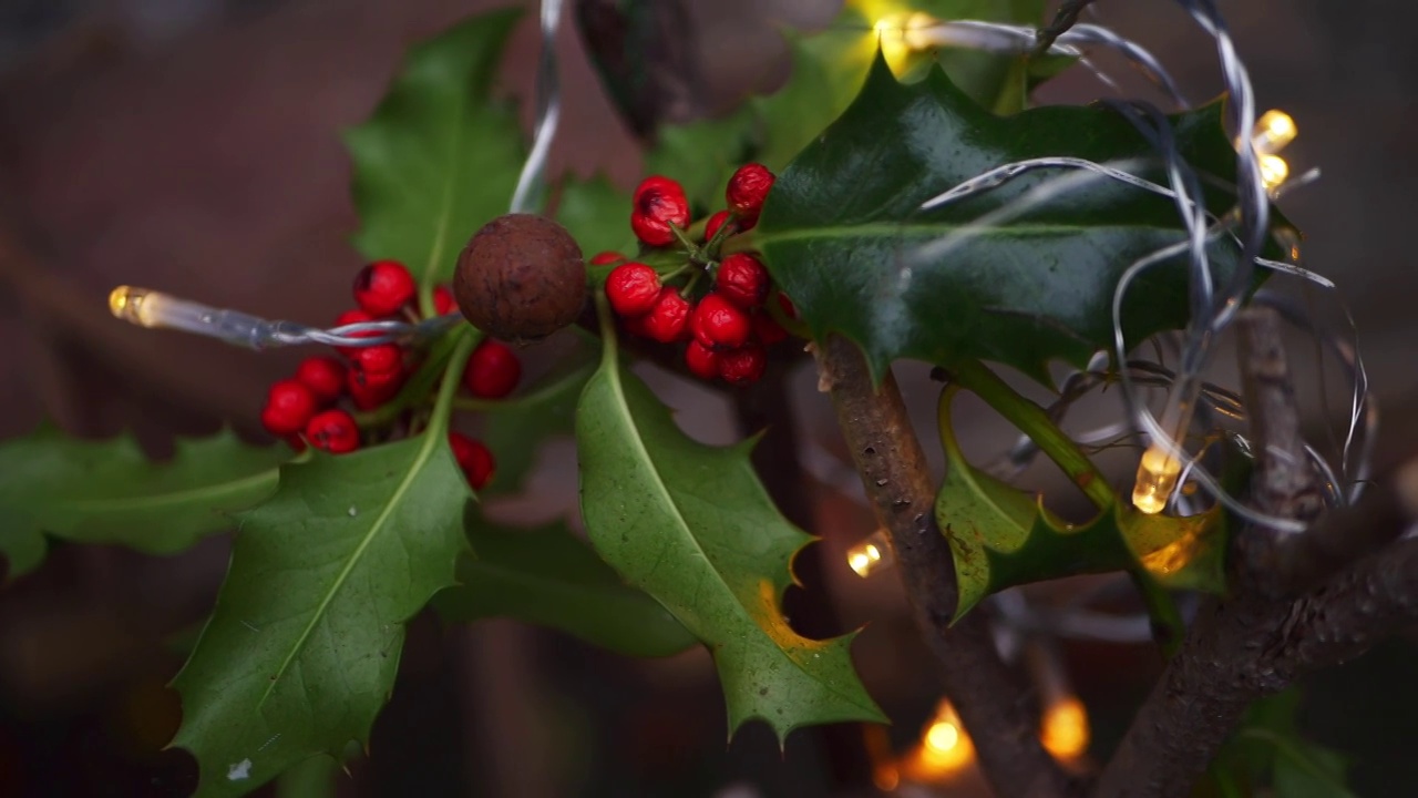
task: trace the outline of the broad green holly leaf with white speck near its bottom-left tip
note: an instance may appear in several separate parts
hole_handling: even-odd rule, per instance
[[[197,795],[241,795],[339,758],[394,686],[404,623],[454,584],[468,483],[442,425],[281,469],[245,513],[217,608],[173,686]]]

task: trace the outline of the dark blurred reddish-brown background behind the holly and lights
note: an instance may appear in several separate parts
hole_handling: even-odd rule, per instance
[[[84,436],[133,429],[159,454],[174,433],[221,423],[259,439],[267,386],[299,352],[255,355],[128,328],[108,318],[108,291],[130,283],[271,318],[333,319],[362,266],[347,244],[357,220],[340,129],[372,111],[407,45],[505,4],[0,0],[0,436],[50,417]],[[1299,124],[1286,151],[1292,169],[1323,169],[1283,209],[1306,234],[1306,266],[1339,283],[1357,319],[1384,409],[1383,467],[1418,450],[1418,270],[1408,240],[1418,210],[1418,9],[1384,0],[1219,4],[1262,109],[1285,108]],[[665,112],[692,118],[780,82],[786,50],[776,26],[821,27],[839,4],[682,6],[689,26],[678,55],[698,87]],[[1191,97],[1215,94],[1210,41],[1170,3],[1096,6],[1100,21],[1150,47]],[[553,169],[603,170],[631,187],[641,169],[637,139],[601,94],[576,26],[563,27],[559,47],[566,118]],[[535,60],[535,31],[525,24],[509,48],[506,92],[527,95]],[[1082,102],[1105,91],[1075,70],[1041,98]],[[900,375],[920,398],[920,429],[933,429],[925,369],[908,365]],[[939,687],[895,576],[861,579],[847,567],[845,551],[873,523],[844,470],[814,375],[783,378],[807,463],[808,501],[795,520],[824,538],[800,558],[814,589],[790,596],[790,612],[814,635],[871,623],[854,652],[895,720],[885,737],[864,741],[851,727],[797,733],[780,755],[771,734],[752,727],[726,747],[722,696],[703,652],[627,662],[510,622],[441,628],[420,618],[370,755],[350,765],[353,778],[335,780],[337,794],[869,794],[866,751],[881,760],[883,745],[915,745],[933,728]],[[723,395],[664,375],[655,383],[705,440],[733,440],[753,417]],[[967,447],[998,450],[1011,440],[990,417],[961,426]],[[502,501],[495,514],[535,523],[574,508],[573,447],[549,446],[539,461],[529,496]],[[227,547],[211,540],[163,559],[60,548],[37,574],[0,588],[0,795],[191,788],[191,763],[160,751],[180,711],[164,684],[210,611]],[[1048,588],[1042,601],[1076,589]],[[1146,645],[1068,642],[1048,656],[1089,709],[1083,761],[1106,757],[1159,672],[1159,655]],[[1306,686],[1307,731],[1350,755],[1363,795],[1409,795],[1404,785],[1418,780],[1411,657],[1411,645],[1398,640]],[[279,789],[318,795],[320,774],[313,777]],[[983,794],[968,767],[951,770],[939,789]]]

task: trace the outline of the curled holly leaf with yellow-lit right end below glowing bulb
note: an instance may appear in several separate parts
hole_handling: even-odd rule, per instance
[[[1069,524],[964,459],[950,423],[956,390],[940,400],[946,476],[936,497],[960,585],[956,619],[990,594],[1078,574],[1130,571],[1166,588],[1222,589],[1219,507],[1176,518],[1113,504],[1088,524]]]

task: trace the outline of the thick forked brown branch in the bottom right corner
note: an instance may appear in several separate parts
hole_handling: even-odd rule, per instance
[[[1258,460],[1256,505],[1272,515],[1312,521],[1319,511],[1319,477],[1300,439],[1278,321],[1269,311],[1248,311],[1239,325],[1241,375]],[[1181,652],[1133,718],[1095,797],[1190,794],[1254,700],[1307,672],[1358,656],[1418,622],[1418,542],[1391,544],[1363,557],[1415,520],[1418,460],[1305,532],[1244,530],[1234,545],[1232,594],[1202,608]]]

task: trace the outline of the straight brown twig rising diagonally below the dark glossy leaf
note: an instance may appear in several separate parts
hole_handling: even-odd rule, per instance
[[[986,616],[954,628],[957,586],[950,545],[936,525],[936,491],[895,379],[872,385],[862,354],[834,338],[817,348],[820,386],[832,396],[838,426],[878,520],[891,532],[916,626],[940,660],[946,694],[974,738],[980,767],[1000,795],[1069,794],[1068,777],[1039,745],[1024,692],[1000,660]]]

